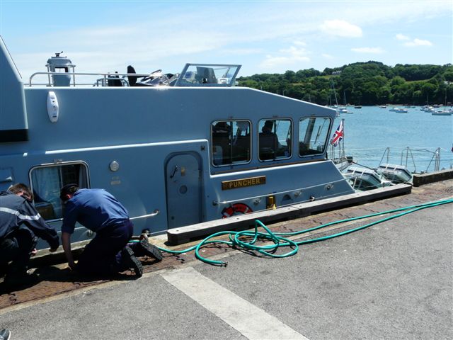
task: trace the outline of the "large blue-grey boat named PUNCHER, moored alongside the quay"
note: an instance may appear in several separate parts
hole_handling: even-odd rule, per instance
[[[0,190],[26,183],[57,230],[67,183],[112,193],[134,234],[355,192],[326,155],[336,111],[235,86],[241,65],[87,74],[58,55],[23,84],[0,46]]]

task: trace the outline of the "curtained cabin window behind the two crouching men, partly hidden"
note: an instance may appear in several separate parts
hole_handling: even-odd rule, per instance
[[[88,188],[88,166],[84,163],[38,166],[30,171],[30,179],[36,210],[45,220],[56,220],[63,217],[60,189],[69,183]]]

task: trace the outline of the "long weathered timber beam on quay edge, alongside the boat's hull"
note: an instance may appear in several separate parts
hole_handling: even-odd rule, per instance
[[[168,244],[183,244],[195,239],[203,239],[210,234],[226,230],[244,230],[253,227],[255,220],[263,223],[277,222],[280,220],[292,220],[298,217],[312,215],[317,212],[344,208],[348,205],[358,205],[374,200],[382,200],[393,196],[406,195],[411,193],[412,186],[409,184],[398,184],[386,188],[378,188],[370,191],[351,193],[345,196],[326,198],[314,202],[299,203],[277,208],[251,212],[245,215],[236,215],[221,220],[197,223],[167,230]]]

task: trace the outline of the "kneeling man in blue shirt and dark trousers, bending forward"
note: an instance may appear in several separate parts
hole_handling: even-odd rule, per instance
[[[142,263],[134,250],[160,261],[162,255],[147,240],[127,246],[134,225],[127,210],[110,193],[103,189],[81,189],[77,184],[67,184],[60,192],[64,207],[62,245],[69,267],[88,275],[111,275],[132,268],[137,277],[142,276]],[[71,234],[76,222],[96,232],[96,237],[85,246],[77,265],[71,253]]]

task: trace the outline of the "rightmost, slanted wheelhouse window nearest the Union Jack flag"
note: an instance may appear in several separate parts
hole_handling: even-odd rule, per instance
[[[323,154],[330,125],[330,118],[302,118],[299,121],[299,155]]]

